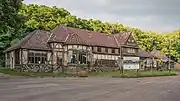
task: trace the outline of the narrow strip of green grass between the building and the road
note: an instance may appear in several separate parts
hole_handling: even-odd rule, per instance
[[[121,78],[137,78],[137,77],[157,77],[157,76],[175,76],[175,70],[172,71],[133,71],[133,70],[126,70],[124,73],[120,73],[120,71],[114,72],[91,72],[91,73],[84,73],[84,74],[75,74],[79,77],[121,77]],[[72,77],[75,75],[72,74],[65,74],[65,73],[44,73],[44,72],[18,72],[16,70],[7,69],[7,68],[0,68],[0,73],[8,74],[10,76],[26,76],[26,77]]]

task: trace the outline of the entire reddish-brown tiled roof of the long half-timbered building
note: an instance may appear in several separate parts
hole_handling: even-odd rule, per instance
[[[51,33],[43,30],[35,30],[21,42],[11,46],[6,51],[19,48],[50,50],[47,44],[48,42],[118,48],[120,44],[122,45],[126,42],[130,35],[130,32],[107,35],[95,31],[58,26]]]

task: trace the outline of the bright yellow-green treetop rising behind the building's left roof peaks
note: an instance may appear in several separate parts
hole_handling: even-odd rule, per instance
[[[23,4],[20,14],[26,17],[25,25],[29,31],[35,29],[52,30],[59,24],[73,24],[74,16],[64,8],[48,7],[45,5]]]

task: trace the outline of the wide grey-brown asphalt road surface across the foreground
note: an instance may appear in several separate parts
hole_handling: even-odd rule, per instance
[[[0,79],[0,101],[180,101],[180,76]]]

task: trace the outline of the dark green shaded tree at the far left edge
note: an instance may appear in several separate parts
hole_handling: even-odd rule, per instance
[[[14,39],[21,37],[23,16],[18,14],[22,0],[0,0],[0,57],[3,50],[10,46]]]

